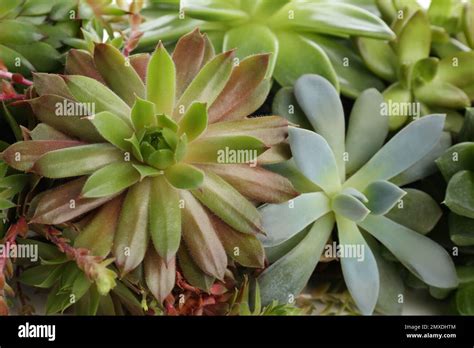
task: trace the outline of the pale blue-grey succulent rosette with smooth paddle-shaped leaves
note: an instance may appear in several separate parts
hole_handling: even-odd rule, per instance
[[[260,209],[266,232],[261,240],[274,261],[259,277],[263,303],[289,301],[303,290],[323,251],[330,256],[326,243],[335,225],[338,249],[352,251],[329,251],[340,256],[346,285],[363,314],[376,304],[384,312],[398,310],[403,294],[399,272],[382,257],[377,240],[423,282],[456,286],[449,254],[423,235],[439,220],[439,207],[421,191],[400,188],[436,170],[434,160],[450,144],[445,117],[414,121],[384,145],[388,117],[380,113],[382,103],[379,92],[365,91],[346,135],[337,91],[323,78],[305,75],[294,93],[276,96],[275,110],[308,129],[289,129],[293,159],[273,166],[302,194]]]

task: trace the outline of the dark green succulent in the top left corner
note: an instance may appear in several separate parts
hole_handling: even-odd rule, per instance
[[[93,4],[91,6],[90,4]],[[80,33],[83,20],[126,12],[112,0],[5,0],[0,4],[0,61],[11,72],[55,71],[68,40]]]

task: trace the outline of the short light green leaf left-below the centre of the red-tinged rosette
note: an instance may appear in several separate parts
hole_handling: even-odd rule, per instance
[[[82,195],[86,198],[111,196],[140,180],[140,174],[131,163],[111,163],[92,174],[84,184]]]

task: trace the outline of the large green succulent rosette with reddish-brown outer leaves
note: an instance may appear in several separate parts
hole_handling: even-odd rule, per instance
[[[122,276],[143,263],[160,302],[175,284],[176,254],[186,280],[202,289],[223,279],[228,258],[262,268],[254,202],[296,194],[260,166],[287,158],[287,121],[247,117],[266,97],[269,56],[238,65],[233,57],[215,55],[195,30],[172,57],[159,44],[128,62],[97,44],[93,55],[70,52],[67,75],[36,74],[38,97],[28,103],[41,123],[3,159],[74,179],[36,196],[29,223],[58,225],[93,211],[74,246],[102,257],[112,250]]]

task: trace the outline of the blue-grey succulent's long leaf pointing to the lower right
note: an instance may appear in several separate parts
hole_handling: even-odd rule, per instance
[[[359,223],[384,244],[410,272],[425,283],[439,288],[458,284],[449,254],[431,239],[380,215],[369,215]]]

